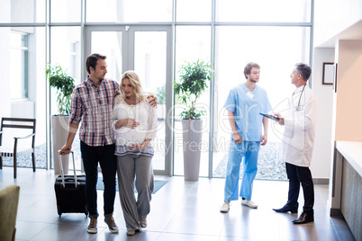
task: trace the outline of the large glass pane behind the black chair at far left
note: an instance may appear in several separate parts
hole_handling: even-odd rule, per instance
[[[36,119],[36,167],[45,168],[45,27],[0,27],[0,35],[0,72],[3,73],[0,79],[0,117]],[[5,157],[4,165],[13,165],[13,158]],[[31,167],[32,156],[19,156],[17,165]]]

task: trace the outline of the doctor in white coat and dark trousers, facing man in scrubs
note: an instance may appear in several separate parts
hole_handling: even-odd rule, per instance
[[[303,187],[303,212],[294,224],[303,224],[314,220],[314,186],[309,166],[312,160],[312,150],[317,119],[317,99],[307,80],[311,76],[311,67],[298,63],[291,75],[292,84],[296,89],[289,100],[289,109],[277,121],[285,126],[283,136],[283,158],[286,174],[289,179],[288,201],[276,212],[298,212],[298,196],[300,186]]]

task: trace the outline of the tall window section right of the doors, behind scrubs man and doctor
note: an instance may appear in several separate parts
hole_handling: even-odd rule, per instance
[[[294,89],[289,80],[294,64],[310,62],[311,0],[204,0],[193,2],[192,10],[187,10],[188,2],[176,1],[175,78],[184,61],[204,58],[213,63],[213,84],[200,102],[213,110],[213,117],[210,112],[204,116],[208,128],[203,132],[202,146],[206,148],[202,150],[200,175],[224,177],[231,139],[223,109],[227,94],[233,86],[245,82],[245,65],[257,62],[261,66],[258,85],[267,90],[273,108],[283,103]],[[200,3],[203,7],[199,7]],[[198,14],[194,14],[196,11]],[[182,175],[182,135],[177,119],[180,111],[176,103],[174,174]],[[259,153],[257,178],[286,178],[278,131],[281,129],[269,121],[268,144]]]

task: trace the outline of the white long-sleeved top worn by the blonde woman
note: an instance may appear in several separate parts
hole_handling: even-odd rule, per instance
[[[122,119],[131,118],[140,125],[134,129],[122,126],[115,129],[115,123]],[[143,100],[137,104],[128,104],[121,97],[116,96],[113,106],[113,129],[115,136],[115,155],[124,156],[136,154],[153,156],[153,147],[149,145],[141,151],[131,151],[131,144],[142,144],[145,139],[155,138],[158,129],[156,108],[149,104],[148,100]]]

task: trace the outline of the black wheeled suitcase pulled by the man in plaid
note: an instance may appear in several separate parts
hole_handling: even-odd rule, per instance
[[[74,175],[64,175],[61,156],[59,155],[59,165],[61,174],[56,178],[54,190],[57,197],[57,207],[59,217],[66,212],[81,212],[88,216],[86,207],[86,175],[76,174],[74,153],[71,151],[73,159]]]

